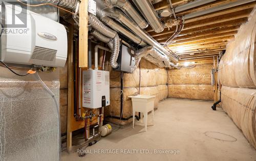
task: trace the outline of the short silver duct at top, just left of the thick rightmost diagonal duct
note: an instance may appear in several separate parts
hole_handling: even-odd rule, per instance
[[[140,16],[136,9],[131,5],[128,0],[106,0],[113,7],[120,8],[127,16],[129,16],[135,23],[137,23],[141,29],[145,29],[148,23]]]

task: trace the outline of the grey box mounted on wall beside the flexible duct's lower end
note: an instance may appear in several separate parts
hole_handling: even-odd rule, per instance
[[[117,62],[119,66],[115,69],[116,71],[132,73],[135,69],[134,50],[122,44]]]

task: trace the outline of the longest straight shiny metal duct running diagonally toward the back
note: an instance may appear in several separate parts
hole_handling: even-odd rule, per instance
[[[159,44],[156,40],[154,40],[145,31],[142,31],[134,22],[132,22],[129,18],[127,18],[121,11],[116,10],[115,13],[111,13],[109,14],[109,16],[120,21],[128,29],[133,31],[142,40],[144,40],[148,45],[155,47],[162,55],[166,55],[170,60],[174,62],[178,62],[178,58],[176,58],[172,53],[168,52],[161,44]]]

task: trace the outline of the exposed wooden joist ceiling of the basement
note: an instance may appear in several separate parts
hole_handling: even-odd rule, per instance
[[[243,0],[238,0],[243,1]],[[172,0],[173,7],[184,5],[191,1]],[[234,0],[219,0],[196,8],[176,13],[182,16],[189,13],[203,11],[212,7],[236,2]],[[219,55],[220,51],[226,49],[228,41],[233,40],[238,33],[240,26],[248,21],[248,17],[255,7],[256,2],[228,8],[218,12],[198,16],[185,20],[184,29],[176,37],[172,44],[168,45],[181,60],[191,59],[212,59],[212,56]],[[170,8],[166,0],[153,5],[155,10]],[[146,31],[159,43],[164,43],[176,30],[165,28],[163,32],[156,33],[149,26]]]

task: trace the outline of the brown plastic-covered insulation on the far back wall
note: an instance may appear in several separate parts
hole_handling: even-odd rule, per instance
[[[212,67],[207,64],[168,70],[168,97],[213,100]]]

